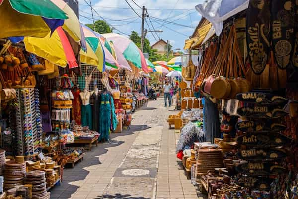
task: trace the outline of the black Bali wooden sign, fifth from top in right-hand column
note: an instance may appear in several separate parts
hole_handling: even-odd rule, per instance
[[[279,160],[286,157],[286,152],[281,149],[241,149],[237,153],[238,157],[243,160],[266,162]]]

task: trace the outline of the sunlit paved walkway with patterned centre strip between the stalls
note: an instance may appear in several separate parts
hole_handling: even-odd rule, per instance
[[[99,144],[51,190],[51,199],[197,199],[175,154],[179,134],[166,118],[176,114],[163,98],[133,114],[131,129],[112,134],[114,144]]]

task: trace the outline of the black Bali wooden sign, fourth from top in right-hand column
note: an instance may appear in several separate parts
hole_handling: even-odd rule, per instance
[[[280,133],[246,133],[237,139],[238,144],[251,147],[270,148],[286,145],[291,142],[288,138]]]

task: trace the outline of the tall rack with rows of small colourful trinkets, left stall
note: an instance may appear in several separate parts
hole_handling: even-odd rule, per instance
[[[18,155],[38,153],[41,139],[39,93],[34,88],[16,88],[16,139]]]

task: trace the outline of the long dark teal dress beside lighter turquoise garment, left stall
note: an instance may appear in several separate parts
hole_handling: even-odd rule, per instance
[[[111,128],[111,95],[109,93],[100,94],[100,108],[99,108],[99,140],[108,140]]]

